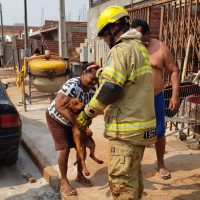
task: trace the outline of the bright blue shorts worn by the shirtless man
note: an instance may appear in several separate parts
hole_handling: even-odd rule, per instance
[[[165,135],[165,99],[163,92],[154,97],[157,136]]]

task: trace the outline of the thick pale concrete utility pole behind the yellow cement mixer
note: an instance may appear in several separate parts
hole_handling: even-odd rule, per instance
[[[59,5],[59,55],[62,57],[67,56],[66,46],[66,24],[65,24],[65,0],[60,0]]]

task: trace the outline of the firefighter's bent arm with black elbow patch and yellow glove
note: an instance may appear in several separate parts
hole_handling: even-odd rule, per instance
[[[113,48],[107,59],[107,64],[101,73],[101,83],[95,95],[85,106],[83,112],[77,117],[77,123],[86,127],[91,118],[96,117],[99,113],[113,102],[117,101],[123,90],[126,81],[126,55],[120,47]]]

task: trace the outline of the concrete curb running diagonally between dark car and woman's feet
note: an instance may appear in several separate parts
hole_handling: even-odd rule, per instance
[[[43,177],[49,183],[49,186],[54,191],[57,191],[60,188],[60,180],[57,172],[24,133],[22,133],[22,146],[39,168]]]

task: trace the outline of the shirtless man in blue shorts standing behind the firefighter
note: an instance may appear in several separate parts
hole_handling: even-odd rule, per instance
[[[179,87],[180,80],[178,75],[178,68],[176,66],[173,55],[169,48],[161,41],[150,38],[149,26],[146,21],[142,19],[134,19],[131,28],[135,28],[142,33],[142,41],[147,47],[150,55],[150,62],[153,69],[153,84],[155,96],[155,113],[156,113],[156,128],[157,128],[157,142],[155,144],[157,155],[157,168],[161,178],[164,180],[171,178],[171,174],[165,167],[164,153],[165,153],[165,102],[163,95],[163,71],[167,69],[170,75],[172,84],[172,98],[170,100],[170,108],[172,111],[179,109]]]

